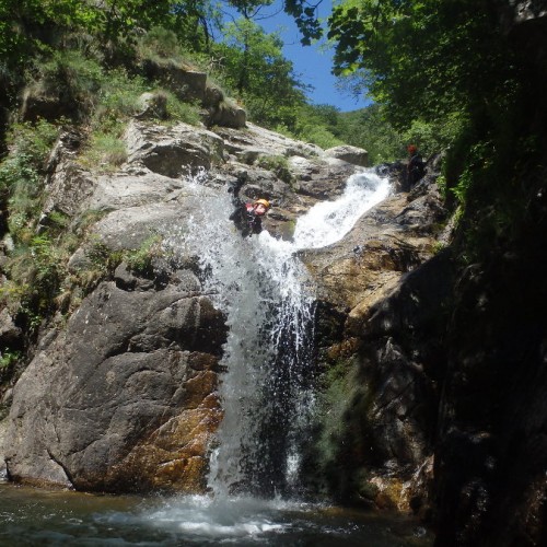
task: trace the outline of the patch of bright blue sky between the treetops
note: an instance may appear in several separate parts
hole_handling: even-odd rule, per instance
[[[326,19],[330,14],[330,9],[331,0],[323,0],[318,7],[318,18]],[[276,12],[279,13],[274,18],[256,22],[268,33],[282,31],[284,57],[293,62],[294,73],[299,80],[314,86],[309,93],[311,103],[329,104],[341,112],[357,110],[370,104],[365,98],[356,101],[348,93],[337,90],[336,78],[330,73],[333,50],[324,50],[318,45],[302,46],[294,20],[282,11],[282,0],[275,0],[275,3],[264,11],[264,13]]]

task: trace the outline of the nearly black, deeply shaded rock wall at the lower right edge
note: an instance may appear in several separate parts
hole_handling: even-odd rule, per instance
[[[458,280],[435,452],[438,545],[547,537],[545,208],[531,207],[531,223],[536,214],[525,241]]]

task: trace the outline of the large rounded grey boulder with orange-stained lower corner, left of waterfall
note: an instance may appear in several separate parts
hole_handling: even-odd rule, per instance
[[[140,281],[137,290],[102,283],[20,379],[4,441],[14,480],[203,490],[221,418],[223,317],[197,279],[161,289]]]

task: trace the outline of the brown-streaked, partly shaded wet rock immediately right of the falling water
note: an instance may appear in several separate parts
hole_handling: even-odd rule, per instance
[[[311,459],[340,500],[428,511],[454,276],[447,253],[433,256],[441,203],[429,174],[340,242],[303,253],[321,300],[319,366],[330,379],[319,407],[339,417],[319,422]]]

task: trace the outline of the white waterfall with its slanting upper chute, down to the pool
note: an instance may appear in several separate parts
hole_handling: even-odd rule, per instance
[[[178,245],[199,257],[205,291],[229,327],[219,386],[224,417],[209,487],[216,498],[298,497],[302,443],[314,406],[315,299],[296,251],[341,238],[387,196],[388,184],[372,171],[351,176],[344,195],[313,207],[287,242],[267,231],[243,238],[228,218],[230,195],[203,178],[191,183],[202,210],[189,219]]]

